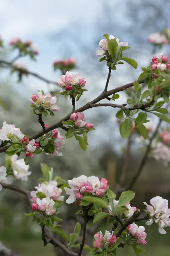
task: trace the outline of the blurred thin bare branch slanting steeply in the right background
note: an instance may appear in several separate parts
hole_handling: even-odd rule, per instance
[[[147,149],[146,149],[146,151],[145,151],[145,153],[144,153],[144,156],[143,156],[143,158],[142,158],[142,161],[141,161],[141,163],[140,163],[140,165],[139,165],[138,171],[136,172],[136,175],[133,177],[133,179],[132,179],[132,181],[131,181],[129,187],[127,188],[127,190],[132,189],[133,186],[134,186],[134,184],[136,183],[136,181],[139,179],[139,176],[140,176],[141,173],[142,173],[143,167],[144,167],[144,165],[145,165],[145,163],[146,163],[146,161],[147,161],[148,155],[149,155],[149,153],[150,153],[150,149],[151,149],[151,146],[152,146],[152,142],[153,142],[154,138],[156,137],[156,134],[157,134],[158,131],[159,131],[159,127],[160,127],[160,125],[161,125],[161,122],[162,122],[162,120],[160,119],[160,120],[159,120],[159,123],[158,123],[158,125],[157,125],[157,127],[156,127],[156,130],[155,130],[155,132],[153,133],[152,137],[150,138],[149,144],[147,145]]]

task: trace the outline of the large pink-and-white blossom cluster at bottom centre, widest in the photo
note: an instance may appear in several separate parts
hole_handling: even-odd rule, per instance
[[[84,193],[92,193],[92,195],[101,197],[108,188],[108,180],[105,178],[99,180],[96,176],[87,177],[81,175],[77,178],[73,178],[73,180],[68,180],[68,185],[71,189],[64,188],[66,194],[69,195],[66,203],[71,204],[75,202],[76,199],[81,199]]]

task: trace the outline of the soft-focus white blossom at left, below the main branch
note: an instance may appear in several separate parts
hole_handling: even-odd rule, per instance
[[[31,175],[31,172],[28,172],[29,165],[26,165],[24,159],[17,160],[17,155],[11,157],[12,160],[12,169],[14,176],[17,180],[28,180],[28,176]]]

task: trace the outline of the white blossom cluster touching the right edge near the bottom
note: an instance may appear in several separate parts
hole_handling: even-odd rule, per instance
[[[164,227],[170,227],[170,209],[168,208],[167,199],[156,196],[150,199],[151,205],[148,205],[145,202],[144,204],[147,206],[147,213],[150,216],[150,219],[146,222],[146,224],[158,224],[159,233],[166,234]]]

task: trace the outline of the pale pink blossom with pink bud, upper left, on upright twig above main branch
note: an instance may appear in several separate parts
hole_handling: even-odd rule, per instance
[[[59,111],[59,107],[55,105],[57,98],[56,96],[53,97],[50,93],[43,94],[39,92],[33,94],[30,101],[32,105],[42,107],[43,110]]]

